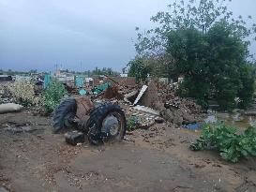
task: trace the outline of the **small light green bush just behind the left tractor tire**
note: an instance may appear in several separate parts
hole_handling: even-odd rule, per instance
[[[68,92],[65,86],[60,81],[53,80],[42,93],[42,105],[47,112],[53,112],[63,96],[67,95]]]

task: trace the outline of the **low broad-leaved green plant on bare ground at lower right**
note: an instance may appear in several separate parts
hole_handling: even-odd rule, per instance
[[[236,131],[236,128],[220,123],[205,125],[200,139],[189,148],[193,151],[217,150],[223,159],[233,163],[242,157],[256,156],[256,128],[249,126],[241,134]]]

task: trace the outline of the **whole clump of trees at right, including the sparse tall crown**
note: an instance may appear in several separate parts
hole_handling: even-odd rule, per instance
[[[180,96],[194,97],[204,108],[213,98],[228,111],[239,97],[238,107],[247,108],[255,82],[248,39],[256,39],[256,24],[235,18],[229,2],[179,0],[168,6],[170,11],[158,12],[151,18],[157,27],[138,33],[138,55],[128,63],[129,75],[137,80],[145,73],[169,79],[182,75]]]

